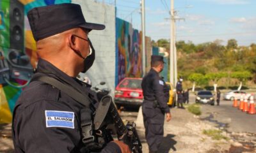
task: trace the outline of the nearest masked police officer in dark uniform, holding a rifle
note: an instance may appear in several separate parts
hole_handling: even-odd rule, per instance
[[[90,85],[76,79],[92,66],[95,50],[88,33],[104,25],[84,20],[78,4],[56,4],[28,12],[31,31],[40,57],[36,77],[47,76],[88,96],[88,114],[97,108]],[[84,152],[81,112],[86,107],[50,84],[32,81],[22,92],[13,111],[15,152]],[[83,116],[84,117],[84,116]],[[90,120],[89,120],[90,121]],[[83,151],[82,151],[83,150]],[[109,142],[101,152],[131,152],[122,142]]]

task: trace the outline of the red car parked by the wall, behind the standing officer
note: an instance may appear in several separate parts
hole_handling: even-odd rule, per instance
[[[143,92],[141,89],[142,78],[124,78],[115,89],[115,105],[140,107],[143,102]]]

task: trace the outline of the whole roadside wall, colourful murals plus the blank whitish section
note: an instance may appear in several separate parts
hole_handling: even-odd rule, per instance
[[[104,31],[90,33],[96,59],[82,77],[88,76],[93,86],[106,82],[112,96],[124,77],[142,77],[141,33],[116,18],[115,6],[94,0],[0,0],[0,124],[12,122],[15,103],[38,61],[26,15],[31,8],[60,3],[78,3],[86,21],[106,25]],[[146,39],[148,64],[152,50]]]

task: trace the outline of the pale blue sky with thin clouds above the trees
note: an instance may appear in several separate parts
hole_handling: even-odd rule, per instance
[[[108,0],[105,0],[107,3]],[[109,0],[113,3],[114,0]],[[146,35],[170,38],[170,0],[145,0]],[[140,0],[116,0],[117,16],[141,29]],[[236,39],[239,45],[256,43],[255,0],[174,0],[177,41],[195,44]]]

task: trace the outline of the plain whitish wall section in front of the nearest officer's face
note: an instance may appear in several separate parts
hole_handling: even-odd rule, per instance
[[[106,25],[103,31],[91,31],[89,38],[95,48],[95,62],[92,68],[81,77],[87,76],[92,86],[106,82],[102,88],[110,88],[111,95],[115,93],[115,7],[97,3],[93,0],[73,0],[72,3],[80,4],[86,22]],[[100,86],[99,86],[100,87]]]

